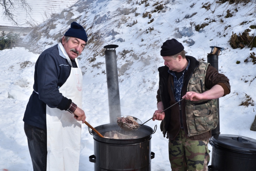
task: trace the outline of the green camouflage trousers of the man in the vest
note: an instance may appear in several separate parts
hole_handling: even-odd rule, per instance
[[[191,140],[183,129],[169,141],[169,160],[172,171],[207,171],[210,161],[209,139]]]

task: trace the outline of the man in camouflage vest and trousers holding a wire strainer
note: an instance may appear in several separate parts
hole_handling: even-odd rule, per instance
[[[206,171],[211,130],[218,124],[216,99],[230,93],[229,80],[209,63],[185,56],[183,45],[176,39],[163,43],[161,56],[165,66],[158,68],[153,120],[162,120],[164,137],[167,133],[172,171]],[[182,98],[185,100],[180,101]]]

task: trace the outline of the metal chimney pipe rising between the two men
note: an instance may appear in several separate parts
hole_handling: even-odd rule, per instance
[[[109,44],[104,46],[105,61],[106,61],[106,74],[108,85],[108,107],[109,107],[109,121],[116,123],[116,117],[121,115],[118,73],[116,62],[116,48],[118,45]],[[113,50],[114,49],[114,50]]]

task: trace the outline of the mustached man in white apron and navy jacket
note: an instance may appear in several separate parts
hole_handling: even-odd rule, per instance
[[[79,168],[82,108],[82,72],[77,57],[87,42],[76,22],[61,42],[37,59],[33,93],[24,114],[24,130],[36,171],[77,171]]]

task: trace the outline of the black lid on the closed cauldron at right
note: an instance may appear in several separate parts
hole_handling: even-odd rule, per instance
[[[256,140],[245,136],[217,134],[212,137],[210,144],[216,148],[256,154]]]

